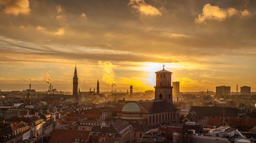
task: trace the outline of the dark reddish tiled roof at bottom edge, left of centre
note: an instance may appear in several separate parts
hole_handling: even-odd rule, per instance
[[[73,143],[75,139],[79,142],[86,142],[90,131],[54,129],[49,143]]]

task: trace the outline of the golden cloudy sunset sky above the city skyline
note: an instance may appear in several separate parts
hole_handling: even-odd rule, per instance
[[[153,90],[173,72],[180,91],[256,90],[256,1],[0,0],[0,89]],[[239,88],[240,91],[240,88]]]

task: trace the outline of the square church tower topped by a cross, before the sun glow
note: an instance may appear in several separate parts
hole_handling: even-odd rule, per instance
[[[173,104],[172,72],[164,70],[156,73],[155,100],[164,100]]]

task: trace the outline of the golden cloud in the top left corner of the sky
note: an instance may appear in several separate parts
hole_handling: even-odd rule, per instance
[[[3,0],[0,1],[0,6],[4,5],[3,12],[6,14],[29,14],[30,7],[28,0]]]

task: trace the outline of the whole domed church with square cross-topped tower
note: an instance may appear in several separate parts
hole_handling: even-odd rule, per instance
[[[159,127],[176,123],[180,110],[173,105],[172,72],[163,69],[156,72],[155,100],[128,101],[117,113],[123,121],[144,123]]]

